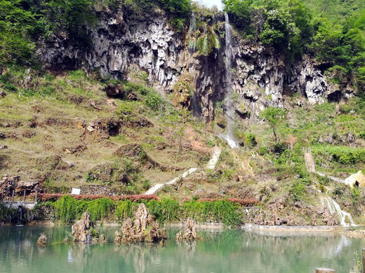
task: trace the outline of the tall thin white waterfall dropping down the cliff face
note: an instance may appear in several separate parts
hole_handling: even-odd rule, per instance
[[[232,102],[232,31],[228,14],[225,13],[225,106],[227,116],[227,132],[220,134],[220,137],[225,139],[231,148],[238,147],[238,141],[235,139],[232,131],[233,123],[233,102]]]

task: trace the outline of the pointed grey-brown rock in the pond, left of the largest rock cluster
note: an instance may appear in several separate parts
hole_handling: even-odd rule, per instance
[[[87,212],[82,214],[81,219],[72,225],[71,235],[74,241],[90,242],[98,238],[93,229],[94,225],[90,221],[90,215]]]

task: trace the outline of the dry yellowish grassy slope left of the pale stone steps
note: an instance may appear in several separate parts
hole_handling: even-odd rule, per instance
[[[27,76],[30,80],[22,80]],[[168,181],[183,169],[197,167],[208,160],[207,134],[199,131],[201,125],[183,111],[173,109],[144,84],[124,84],[128,92],[138,95],[139,101],[131,102],[108,98],[104,91],[106,83],[87,77],[82,71],[55,77],[34,71],[29,75],[24,70],[10,71],[1,80],[8,93],[0,100],[1,132],[6,135],[1,142],[8,149],[1,151],[0,174],[20,175],[23,181],[41,181],[48,191],[68,191],[72,186],[97,184],[119,192],[141,193],[145,190],[142,187],[146,188],[149,183]],[[156,109],[146,106],[149,97],[161,101]],[[153,126],[122,124],[119,134],[112,136],[103,131],[88,133],[85,130],[89,123],[120,121],[119,109],[126,108],[131,110],[128,119],[147,119]],[[204,153],[194,151],[190,139],[183,137],[185,128],[196,134]],[[181,171],[154,169],[144,158],[114,155],[119,146],[130,143],[141,144],[153,160],[180,167]],[[157,149],[158,146],[162,148]],[[72,148],[77,151],[69,153],[67,149]],[[54,156],[60,156],[62,162],[57,164]],[[73,167],[68,167],[67,162]],[[114,166],[114,172],[128,174],[128,183],[120,185],[115,176],[114,180],[106,181],[87,178],[89,170],[107,164]]]

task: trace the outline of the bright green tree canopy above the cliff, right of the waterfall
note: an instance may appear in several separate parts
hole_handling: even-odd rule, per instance
[[[291,64],[303,53],[332,67],[355,87],[365,85],[365,6],[361,0],[223,0],[247,37],[272,45]],[[245,23],[242,23],[245,22]]]

